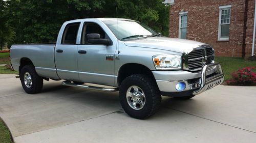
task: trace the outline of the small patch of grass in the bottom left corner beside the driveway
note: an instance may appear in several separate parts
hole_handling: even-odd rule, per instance
[[[1,143],[11,143],[12,142],[11,134],[1,119],[0,119],[0,142]]]

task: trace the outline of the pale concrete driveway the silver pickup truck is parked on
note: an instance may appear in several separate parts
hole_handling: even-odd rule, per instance
[[[164,97],[156,115],[137,120],[123,112],[118,92],[44,83],[29,95],[13,74],[0,74],[0,116],[15,142],[256,142],[256,87]]]

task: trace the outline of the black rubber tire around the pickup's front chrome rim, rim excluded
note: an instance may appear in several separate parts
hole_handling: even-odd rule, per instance
[[[139,110],[133,109],[126,99],[126,92],[132,86],[139,87],[144,92],[145,103]],[[161,93],[156,81],[144,74],[134,74],[126,77],[121,83],[119,98],[127,115],[136,119],[146,119],[154,115],[161,104]]]

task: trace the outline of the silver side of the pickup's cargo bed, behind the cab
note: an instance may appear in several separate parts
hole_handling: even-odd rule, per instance
[[[29,59],[33,62],[38,75],[58,79],[54,63],[54,48],[55,43],[12,45],[10,49],[12,66],[18,71],[20,62]]]

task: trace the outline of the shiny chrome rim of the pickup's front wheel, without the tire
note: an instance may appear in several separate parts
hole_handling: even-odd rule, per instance
[[[135,110],[140,110],[144,107],[146,98],[144,92],[137,86],[131,86],[126,92],[127,103]]]

